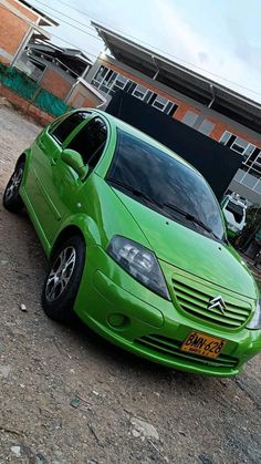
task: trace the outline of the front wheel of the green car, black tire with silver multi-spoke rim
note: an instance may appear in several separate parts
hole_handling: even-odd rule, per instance
[[[83,275],[85,255],[84,239],[74,235],[51,258],[42,291],[42,307],[49,318],[65,323],[76,319],[73,306]],[[71,264],[66,266],[66,262]]]

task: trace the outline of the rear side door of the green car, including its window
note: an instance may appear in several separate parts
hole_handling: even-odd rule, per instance
[[[34,219],[41,230],[43,241],[50,244],[62,212],[58,200],[56,164],[66,140],[74,130],[81,128],[92,115],[77,111],[48,126],[32,145],[32,157],[27,178],[27,195],[33,209]]]

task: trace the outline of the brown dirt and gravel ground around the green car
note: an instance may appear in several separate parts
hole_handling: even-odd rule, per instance
[[[0,107],[0,197],[40,130]],[[261,462],[261,357],[223,380],[145,362],[49,320],[45,271],[27,215],[1,205],[0,463]]]

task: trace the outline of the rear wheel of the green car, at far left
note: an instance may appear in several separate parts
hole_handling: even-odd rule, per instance
[[[6,190],[3,193],[2,204],[6,209],[11,213],[21,213],[23,209],[23,200],[19,194],[19,188],[24,173],[24,163],[21,162],[15,166]]]

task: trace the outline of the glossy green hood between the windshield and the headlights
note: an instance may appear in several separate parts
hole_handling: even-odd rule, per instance
[[[257,298],[254,280],[231,246],[222,245],[115,189],[158,259],[209,282]]]

